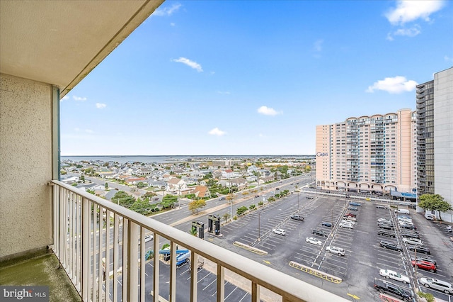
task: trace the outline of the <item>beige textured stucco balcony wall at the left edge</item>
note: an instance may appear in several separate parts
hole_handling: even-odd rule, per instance
[[[0,74],[0,260],[52,243],[52,86]]]

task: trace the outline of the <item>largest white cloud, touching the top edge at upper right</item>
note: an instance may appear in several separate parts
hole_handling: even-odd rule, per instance
[[[443,0],[398,0],[396,7],[388,11],[385,16],[392,25],[404,24],[418,18],[430,21],[431,13],[442,9]]]

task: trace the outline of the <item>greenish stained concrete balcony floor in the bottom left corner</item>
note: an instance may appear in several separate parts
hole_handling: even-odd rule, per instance
[[[81,301],[53,252],[38,252],[0,263],[0,284],[49,286],[50,301]]]

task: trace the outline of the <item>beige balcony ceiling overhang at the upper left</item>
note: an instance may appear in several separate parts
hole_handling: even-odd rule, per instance
[[[163,2],[1,0],[0,72],[64,96]]]

